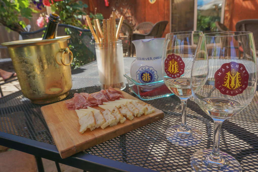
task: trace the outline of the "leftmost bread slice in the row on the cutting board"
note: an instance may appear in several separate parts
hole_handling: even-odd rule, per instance
[[[80,124],[80,133],[84,133],[84,131],[86,131],[87,128],[91,128],[94,125],[96,125],[96,120],[94,118],[93,112],[91,111],[85,116],[79,118],[79,124]]]

